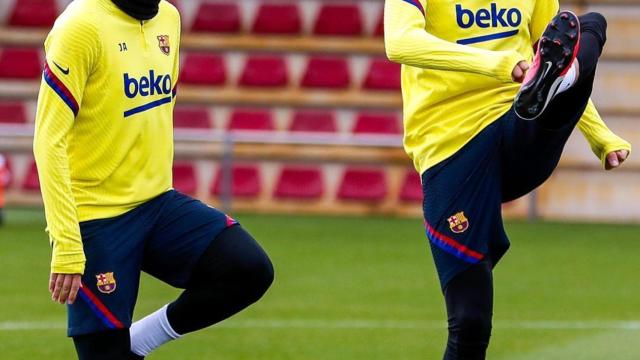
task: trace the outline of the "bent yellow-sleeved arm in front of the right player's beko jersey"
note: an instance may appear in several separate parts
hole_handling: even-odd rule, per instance
[[[518,52],[490,51],[442,40],[425,30],[424,0],[386,0],[384,33],[387,57],[425,69],[462,71],[511,82]],[[428,15],[427,15],[428,16]]]

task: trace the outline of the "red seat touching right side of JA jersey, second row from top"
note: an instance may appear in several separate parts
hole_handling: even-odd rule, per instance
[[[180,82],[191,85],[224,85],[227,71],[224,58],[210,53],[189,53],[184,59]]]

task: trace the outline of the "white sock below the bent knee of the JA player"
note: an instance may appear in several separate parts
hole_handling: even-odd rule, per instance
[[[165,305],[160,310],[147,317],[136,321],[131,325],[131,351],[139,356],[147,356],[153,350],[171,340],[180,337],[169,324],[167,318],[167,307]]]

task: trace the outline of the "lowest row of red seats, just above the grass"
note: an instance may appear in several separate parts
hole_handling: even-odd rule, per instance
[[[262,173],[259,165],[242,164],[231,168],[231,195],[233,198],[252,199],[262,193]],[[225,191],[223,174],[219,168],[209,186],[212,196]],[[196,166],[177,162],[173,168],[174,187],[186,194],[195,195],[199,188]],[[40,181],[35,162],[29,166],[22,183],[25,191],[40,191]],[[320,199],[325,195],[325,180],[320,166],[283,166],[273,196],[278,199]],[[387,175],[380,168],[348,167],[345,169],[337,197],[341,200],[378,202],[389,193]],[[420,177],[414,170],[407,170],[400,189],[399,199],[405,202],[422,201]]]

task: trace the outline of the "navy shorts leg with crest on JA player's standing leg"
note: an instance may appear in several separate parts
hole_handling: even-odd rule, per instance
[[[80,224],[85,272],[68,306],[69,336],[125,329],[138,295],[145,226],[140,209],[114,219]]]

